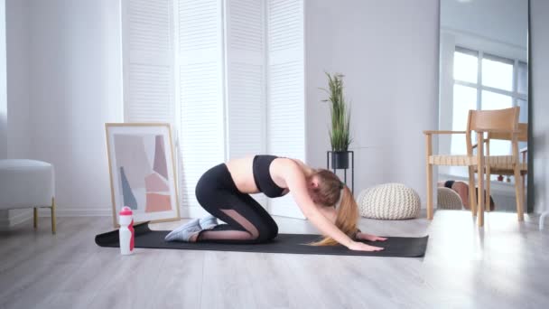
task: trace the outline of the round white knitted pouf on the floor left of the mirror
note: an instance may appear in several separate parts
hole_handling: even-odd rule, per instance
[[[358,209],[362,217],[381,220],[416,218],[421,209],[417,192],[402,183],[385,183],[358,194]]]

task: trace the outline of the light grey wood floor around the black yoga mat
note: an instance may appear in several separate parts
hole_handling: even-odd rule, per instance
[[[281,232],[307,221],[275,218]],[[360,220],[380,235],[429,234],[424,258],[99,248],[110,218],[48,218],[0,232],[2,308],[547,308],[549,231],[511,213],[484,229],[466,211],[433,222]],[[172,229],[181,222],[155,224]]]

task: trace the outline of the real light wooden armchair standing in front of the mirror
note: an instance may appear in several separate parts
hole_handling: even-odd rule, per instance
[[[518,157],[518,147],[516,136],[518,133],[518,113],[520,108],[506,108],[498,110],[470,110],[467,120],[466,131],[423,131],[426,137],[426,167],[427,167],[427,218],[433,220],[433,165],[450,165],[450,166],[467,166],[469,168],[469,198],[470,210],[473,216],[479,215],[479,227],[484,225],[484,198],[479,194],[477,199],[475,188],[474,173],[485,170],[485,155],[484,155],[484,134],[511,134],[513,144],[513,162],[514,171],[518,173],[518,168],[515,164]],[[475,131],[478,141],[477,153],[473,154],[473,145],[471,137]],[[440,134],[465,134],[467,144],[467,155],[433,155],[433,135]],[[479,175],[479,192],[484,192],[484,175]],[[521,194],[517,194],[520,195]],[[478,205],[477,205],[478,202]],[[477,207],[478,206],[478,207]],[[517,202],[516,211],[519,220],[523,220],[522,216],[523,204]]]

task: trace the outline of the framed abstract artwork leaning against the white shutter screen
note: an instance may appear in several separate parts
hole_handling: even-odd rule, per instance
[[[105,132],[115,228],[124,206],[135,223],[178,220],[170,125],[106,123]]]

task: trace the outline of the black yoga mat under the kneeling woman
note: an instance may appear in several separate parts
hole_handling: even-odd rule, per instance
[[[308,246],[314,240],[321,239],[313,234],[278,234],[273,241],[263,244],[221,244],[214,242],[181,242],[165,241],[169,230],[151,230],[148,222],[137,224],[135,229],[135,248],[171,248],[189,250],[216,250],[265,253],[295,253],[339,256],[375,256],[375,257],[423,257],[427,248],[429,236],[420,238],[389,237],[386,241],[364,241],[368,245],[385,248],[382,251],[353,251],[341,245]],[[101,247],[118,248],[118,230],[109,231],[96,236],[96,243]]]

